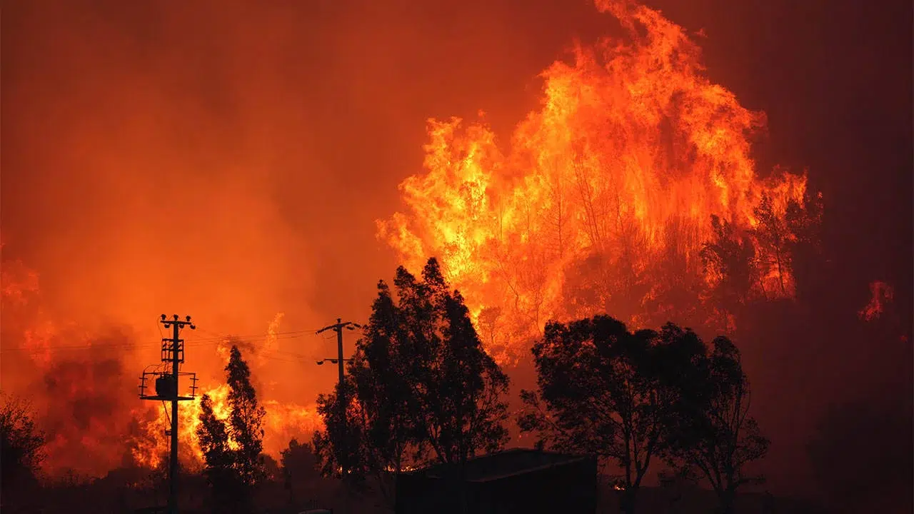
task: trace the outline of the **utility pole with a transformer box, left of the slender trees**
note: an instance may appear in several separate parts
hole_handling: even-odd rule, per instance
[[[184,363],[184,339],[180,337],[180,332],[184,327],[189,327],[191,330],[197,327],[191,323],[190,316],[185,316],[182,321],[177,315],[172,319],[167,319],[165,315],[162,315],[159,323],[165,328],[172,329],[172,337],[162,339],[162,362],[165,363],[165,370],[143,371],[143,376],[140,377],[140,398],[171,402],[171,430],[165,431],[166,435],[171,436],[171,454],[168,461],[168,512],[177,514],[177,402],[194,400],[197,396],[197,374],[178,371],[178,367]],[[168,365],[171,365],[170,371]],[[186,375],[190,378],[190,396],[178,394],[179,375]],[[145,394],[146,379],[149,376],[155,376],[154,395]]]

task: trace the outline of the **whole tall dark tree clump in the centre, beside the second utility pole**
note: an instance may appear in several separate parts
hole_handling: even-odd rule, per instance
[[[460,293],[452,291],[438,262],[430,259],[421,280],[400,267],[396,298],[384,281],[349,366],[352,388],[347,455],[375,473],[401,471],[428,461],[462,468],[479,451],[507,440],[508,379],[485,352]],[[322,397],[327,434],[315,446],[325,465],[335,455],[339,432],[335,400]],[[329,443],[329,444],[326,444]],[[353,463],[354,466],[356,462]]]

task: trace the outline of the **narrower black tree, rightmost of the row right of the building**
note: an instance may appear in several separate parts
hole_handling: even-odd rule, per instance
[[[671,327],[677,331],[678,327]],[[701,343],[704,348],[704,343]],[[695,377],[683,380],[684,391],[672,423],[667,456],[684,471],[696,469],[711,484],[725,514],[733,511],[737,489],[760,483],[744,466],[765,456],[770,444],[749,416],[749,380],[737,348],[727,337],[714,339]]]

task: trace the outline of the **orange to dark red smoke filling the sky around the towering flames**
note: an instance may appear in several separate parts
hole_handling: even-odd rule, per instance
[[[117,382],[124,397],[108,401],[126,409],[116,423],[131,437],[147,416],[164,418],[159,404],[135,397],[136,378],[159,360],[160,314],[193,316],[185,366],[207,387],[224,380],[214,334],[258,335],[248,339],[260,345],[279,312],[281,331],[301,337],[279,337],[253,371],[270,392],[265,402],[308,405],[329,391],[335,373],[311,363],[335,345],[309,334],[337,316],[364,321],[377,279],[396,268],[373,220],[402,209],[396,186],[421,169],[423,121],[484,108],[507,137],[536,107],[537,74],[574,37],[618,29],[586,2],[523,4],[5,2],[2,271],[21,259],[38,273],[16,290],[28,308],[4,295],[4,391],[44,395],[48,369],[80,362],[87,370],[61,365],[61,376]],[[740,341],[757,405],[771,399],[760,421],[783,448],[801,437],[794,418],[814,417],[815,405],[879,374],[858,369],[856,351],[879,343],[834,322],[859,321],[874,278],[895,287],[910,341],[911,175],[898,170],[910,168],[914,138],[910,73],[897,63],[911,59],[893,53],[910,51],[910,3],[840,12],[787,1],[653,4],[689,29],[707,28],[712,80],[768,112],[760,169],[810,166],[811,187],[828,198],[831,262],[817,266],[810,302],[821,307],[798,321],[824,327],[814,334],[821,342],[784,334],[750,350]],[[809,19],[819,20],[815,30]],[[40,346],[73,325],[79,337]],[[133,344],[49,348],[113,337],[112,326],[129,327]],[[116,359],[120,371],[89,371],[94,359]],[[803,389],[802,374],[818,385]],[[56,387],[68,390],[62,380]],[[86,405],[90,419],[108,419]],[[68,441],[79,444],[76,435]],[[783,450],[772,483],[800,453],[797,444]]]

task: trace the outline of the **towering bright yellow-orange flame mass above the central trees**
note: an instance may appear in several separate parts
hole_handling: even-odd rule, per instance
[[[756,174],[750,137],[764,114],[707,80],[682,27],[631,2],[596,5],[629,42],[578,45],[545,70],[541,105],[506,153],[482,115],[430,120],[425,173],[399,186],[407,213],[377,221],[409,268],[441,260],[501,359],[549,318],[645,321],[671,276],[713,283],[699,259],[711,215],[750,232],[763,201],[783,220],[806,192],[804,175]],[[792,294],[789,272],[772,269],[766,295]]]

